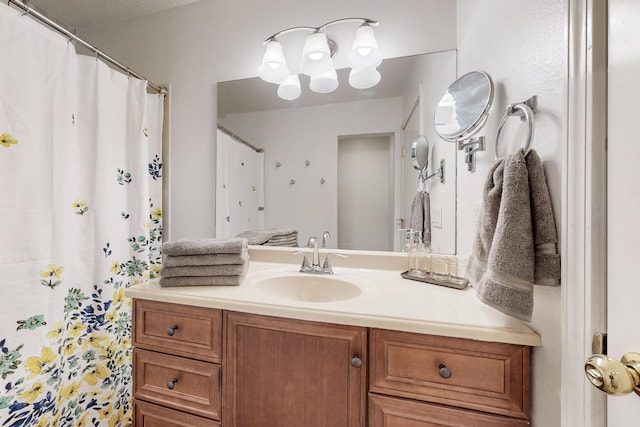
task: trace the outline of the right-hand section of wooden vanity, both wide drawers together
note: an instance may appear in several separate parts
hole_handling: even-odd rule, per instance
[[[380,329],[369,345],[370,427],[529,425],[529,347]]]

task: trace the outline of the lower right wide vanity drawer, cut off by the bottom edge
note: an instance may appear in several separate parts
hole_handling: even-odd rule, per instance
[[[415,400],[369,395],[369,427],[522,427],[519,418]]]

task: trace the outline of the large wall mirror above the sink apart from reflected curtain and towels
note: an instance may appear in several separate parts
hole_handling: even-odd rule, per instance
[[[385,59],[381,82],[365,90],[349,87],[348,70],[338,70],[338,90],[316,94],[302,81],[294,101],[278,98],[277,86],[257,77],[220,82],[218,125],[263,151],[261,226],[295,229],[301,246],[328,231],[329,248],[399,250],[419,187],[411,145],[422,135],[428,173],[445,165],[444,181],[424,186],[431,248],[455,254],[456,147],[437,136],[433,117],[456,79],[456,55]]]

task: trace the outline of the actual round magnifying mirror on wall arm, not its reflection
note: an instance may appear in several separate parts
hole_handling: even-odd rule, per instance
[[[493,102],[493,81],[483,71],[457,79],[442,95],[434,114],[436,132],[446,141],[466,139],[487,121]]]

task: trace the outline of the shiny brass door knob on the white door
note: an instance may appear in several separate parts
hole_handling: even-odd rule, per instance
[[[584,364],[584,372],[605,393],[621,396],[635,391],[640,395],[640,353],[626,353],[619,361],[594,354]]]

